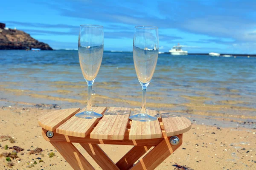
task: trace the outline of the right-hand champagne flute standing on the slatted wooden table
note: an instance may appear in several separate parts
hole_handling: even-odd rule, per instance
[[[147,114],[146,91],[153,77],[158,58],[158,28],[155,26],[136,26],[133,42],[134,66],[142,86],[142,104],[140,113],[130,116],[135,121],[154,121],[156,117]]]

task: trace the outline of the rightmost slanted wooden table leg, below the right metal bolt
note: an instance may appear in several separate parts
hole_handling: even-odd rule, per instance
[[[154,170],[168,156],[170,156],[182,144],[182,134],[177,135],[180,139],[179,144],[172,145],[169,142],[170,137],[165,137],[156,147],[131,168],[131,170]]]

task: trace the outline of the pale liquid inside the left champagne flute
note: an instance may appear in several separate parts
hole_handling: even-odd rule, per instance
[[[84,79],[92,81],[96,78],[102,62],[103,45],[95,47],[79,47],[79,62]]]

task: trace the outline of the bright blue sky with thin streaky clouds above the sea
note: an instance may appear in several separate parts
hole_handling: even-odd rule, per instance
[[[5,0],[0,22],[54,49],[77,48],[80,24],[104,26],[105,50],[132,51],[134,26],[159,28],[160,51],[256,54],[256,0]],[[4,7],[4,8],[3,8]]]

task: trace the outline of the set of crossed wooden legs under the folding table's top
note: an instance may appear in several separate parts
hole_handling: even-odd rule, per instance
[[[44,134],[44,131],[43,131]],[[154,170],[182,144],[182,134],[177,135],[180,142],[170,144],[171,137],[164,137],[153,149],[152,146],[134,146],[116,164],[98,144],[79,142],[102,170]],[[50,139],[50,138],[49,138]],[[94,170],[71,142],[50,142],[74,170]],[[151,150],[150,150],[151,149]],[[148,153],[147,153],[148,152]],[[145,156],[143,156],[147,153]],[[143,158],[140,159],[140,157]],[[134,164],[140,159],[136,164]]]

